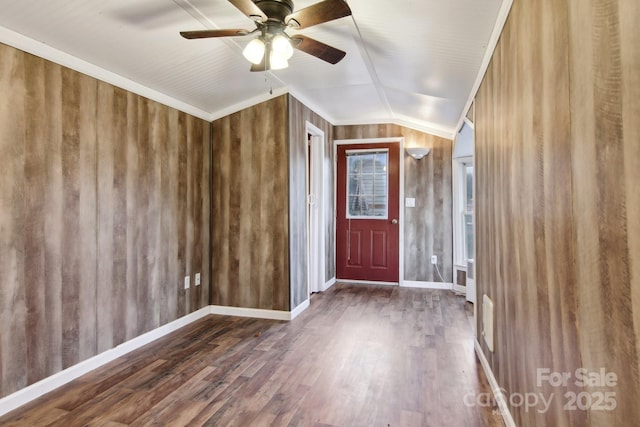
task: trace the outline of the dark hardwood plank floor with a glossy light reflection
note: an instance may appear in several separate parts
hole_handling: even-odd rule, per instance
[[[336,284],[291,322],[208,316],[0,418],[7,426],[499,426],[473,308]]]

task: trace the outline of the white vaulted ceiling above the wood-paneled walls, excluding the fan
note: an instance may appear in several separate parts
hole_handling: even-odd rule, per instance
[[[316,2],[294,0],[295,9]],[[179,36],[253,30],[226,0],[0,0],[0,42],[208,120],[290,92],[333,124],[392,122],[452,138],[506,3],[348,0],[352,17],[300,32],[346,51],[340,63],[296,51],[289,68],[269,73],[249,71],[251,37]]]

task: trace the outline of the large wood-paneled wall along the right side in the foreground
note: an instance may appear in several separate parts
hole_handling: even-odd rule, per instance
[[[476,97],[476,284],[495,304],[483,352],[519,426],[640,419],[640,5],[515,0]],[[478,331],[482,331],[481,317]],[[616,386],[581,388],[601,368]],[[566,387],[537,370],[568,373]],[[567,410],[565,393],[615,393]]]

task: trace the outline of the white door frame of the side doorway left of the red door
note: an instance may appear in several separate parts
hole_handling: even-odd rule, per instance
[[[305,144],[307,194],[307,292],[325,290],[325,218],[324,218],[324,132],[306,122],[311,135],[311,152]],[[311,162],[309,162],[311,156]],[[311,167],[311,170],[309,170]],[[305,190],[306,191],[306,190]]]

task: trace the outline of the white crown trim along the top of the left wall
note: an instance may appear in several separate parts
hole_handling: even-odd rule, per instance
[[[200,119],[210,121],[211,113],[2,26],[0,26],[0,42],[48,61],[55,62],[56,64],[70,68],[79,73],[94,77],[121,89],[125,89],[137,95],[157,101],[168,107],[175,108]]]

